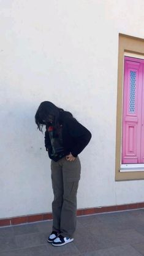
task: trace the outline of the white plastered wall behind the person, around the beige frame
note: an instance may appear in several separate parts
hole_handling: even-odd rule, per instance
[[[144,38],[143,0],[0,1],[0,218],[51,212],[40,102],[93,134],[80,154],[78,208],[144,200],[144,181],[115,182],[118,33]],[[130,22],[131,21],[131,22]]]

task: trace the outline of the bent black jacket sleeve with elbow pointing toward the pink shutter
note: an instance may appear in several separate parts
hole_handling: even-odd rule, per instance
[[[69,134],[75,142],[74,147],[71,149],[71,153],[74,155],[74,157],[77,157],[77,155],[80,154],[83,149],[85,149],[86,145],[88,145],[91,139],[91,133],[74,118],[69,118],[67,126]]]

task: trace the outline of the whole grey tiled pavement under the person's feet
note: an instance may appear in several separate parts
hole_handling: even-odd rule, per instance
[[[77,218],[74,242],[48,244],[51,221],[0,228],[1,256],[142,256],[144,209]]]

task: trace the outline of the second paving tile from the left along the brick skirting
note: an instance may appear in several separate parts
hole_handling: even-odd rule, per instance
[[[13,226],[13,231],[15,235],[18,234],[28,234],[28,233],[36,233],[39,232],[36,224],[25,224],[25,225],[18,225]]]

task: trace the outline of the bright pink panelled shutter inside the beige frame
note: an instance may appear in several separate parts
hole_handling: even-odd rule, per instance
[[[122,163],[144,163],[144,60],[125,57]]]

